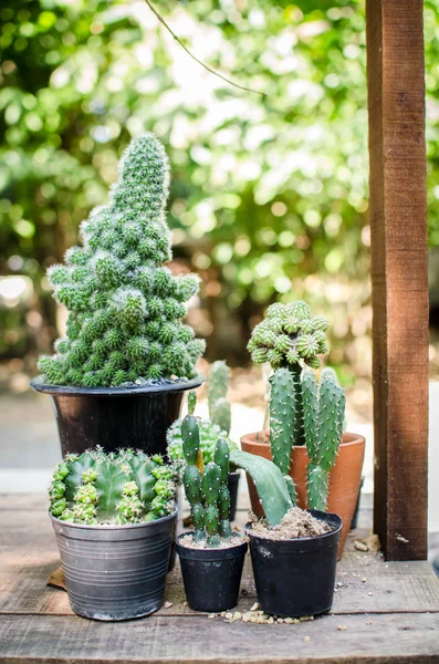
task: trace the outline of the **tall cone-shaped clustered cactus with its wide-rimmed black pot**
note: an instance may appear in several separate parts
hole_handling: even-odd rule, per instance
[[[165,205],[169,166],[153,134],[128,146],[109,203],[81,226],[82,246],[49,269],[69,311],[66,336],[32,386],[52,396],[63,454],[105,442],[165,453],[182,391],[201,384],[205,342],[182,323],[198,277],[174,277]]]

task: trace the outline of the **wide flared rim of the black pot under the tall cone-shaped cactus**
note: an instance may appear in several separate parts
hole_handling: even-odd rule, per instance
[[[182,392],[194,390],[202,385],[205,376],[198,375],[195,378],[184,381],[181,378],[171,381],[165,378],[161,383],[151,383],[148,385],[128,385],[127,387],[73,387],[67,385],[51,385],[45,383],[43,376],[39,375],[32,378],[31,387],[43,394],[54,394],[60,396],[136,396],[138,394],[157,394],[159,392]]]

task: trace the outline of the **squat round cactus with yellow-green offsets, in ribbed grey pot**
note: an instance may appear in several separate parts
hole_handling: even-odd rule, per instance
[[[160,609],[174,480],[160,456],[130,449],[70,454],[56,466],[49,511],[75,613],[116,621]]]

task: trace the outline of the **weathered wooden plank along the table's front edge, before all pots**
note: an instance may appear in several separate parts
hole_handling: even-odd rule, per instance
[[[432,664],[439,661],[438,631],[438,614],[326,616],[294,625],[227,623],[202,615],[154,615],[123,624],[8,615],[0,623],[0,652],[2,664]]]

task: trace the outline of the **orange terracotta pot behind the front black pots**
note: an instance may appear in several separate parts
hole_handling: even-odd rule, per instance
[[[270,433],[268,430],[255,434],[247,434],[241,438],[243,452],[255,454],[271,460]],[[338,546],[338,556],[342,556],[351,521],[354,516],[358,499],[359,483],[362,481],[362,468],[364,459],[365,438],[358,434],[343,434],[342,444],[338,449],[337,459],[330,474],[330,489],[326,510],[342,517],[343,528]],[[306,447],[293,447],[291,455],[290,475],[294,479],[297,492],[297,506],[306,509],[306,467],[310,461]],[[263,509],[259,502],[253,481],[247,476],[249,485],[250,501],[253,512],[261,517]]]

